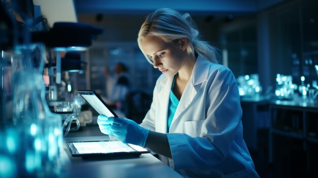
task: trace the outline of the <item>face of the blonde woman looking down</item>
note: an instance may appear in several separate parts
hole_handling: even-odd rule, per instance
[[[144,53],[153,61],[153,67],[158,68],[167,77],[178,73],[187,55],[181,43],[166,43],[162,39],[148,35],[141,42]]]

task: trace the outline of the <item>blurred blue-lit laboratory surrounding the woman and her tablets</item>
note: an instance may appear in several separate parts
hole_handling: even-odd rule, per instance
[[[189,13],[232,70],[244,140],[260,177],[318,177],[318,1],[0,5],[0,177],[180,176],[151,154],[82,160],[65,146],[105,137],[78,90],[95,91],[119,116],[141,123],[162,73],[145,59],[137,37],[158,8]]]

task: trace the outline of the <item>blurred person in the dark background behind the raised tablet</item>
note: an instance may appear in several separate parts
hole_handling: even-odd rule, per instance
[[[116,105],[117,109],[120,109],[121,103],[130,91],[127,70],[121,62],[116,63],[113,76],[110,75],[109,68],[105,68],[107,102],[110,105]]]

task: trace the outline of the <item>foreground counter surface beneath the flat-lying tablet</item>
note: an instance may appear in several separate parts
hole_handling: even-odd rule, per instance
[[[109,140],[100,132],[96,118],[93,124],[69,132],[63,143],[62,177],[182,177],[150,153],[132,158],[82,159],[72,157],[66,146],[67,141],[93,140]]]

